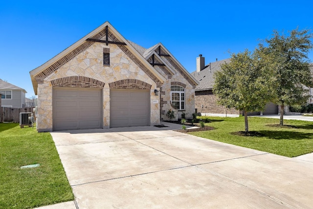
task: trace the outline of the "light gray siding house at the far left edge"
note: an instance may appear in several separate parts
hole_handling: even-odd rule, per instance
[[[23,108],[25,107],[24,89],[0,79],[1,107]]]

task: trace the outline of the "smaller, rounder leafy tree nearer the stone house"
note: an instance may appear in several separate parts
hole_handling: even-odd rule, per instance
[[[262,53],[245,50],[232,54],[229,63],[217,71],[213,92],[218,104],[226,108],[243,110],[245,132],[248,132],[247,112],[262,111],[272,99],[271,71],[261,62]]]

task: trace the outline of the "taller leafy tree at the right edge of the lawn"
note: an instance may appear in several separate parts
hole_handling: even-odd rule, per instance
[[[273,102],[280,106],[280,125],[284,122],[286,105],[303,104],[309,98],[308,89],[312,87],[308,52],[312,49],[313,37],[309,30],[291,30],[289,35],[274,31],[267,46],[260,44],[264,54],[262,62],[273,71],[275,97]]]

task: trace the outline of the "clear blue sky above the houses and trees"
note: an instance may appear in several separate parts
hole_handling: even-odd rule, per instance
[[[143,47],[161,42],[192,72],[199,54],[208,64],[253,50],[273,30],[313,29],[312,7],[312,0],[2,1],[0,78],[34,95],[29,71],[106,21]]]

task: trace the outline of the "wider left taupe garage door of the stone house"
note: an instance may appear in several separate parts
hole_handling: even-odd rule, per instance
[[[53,89],[53,130],[102,128],[102,90]]]

